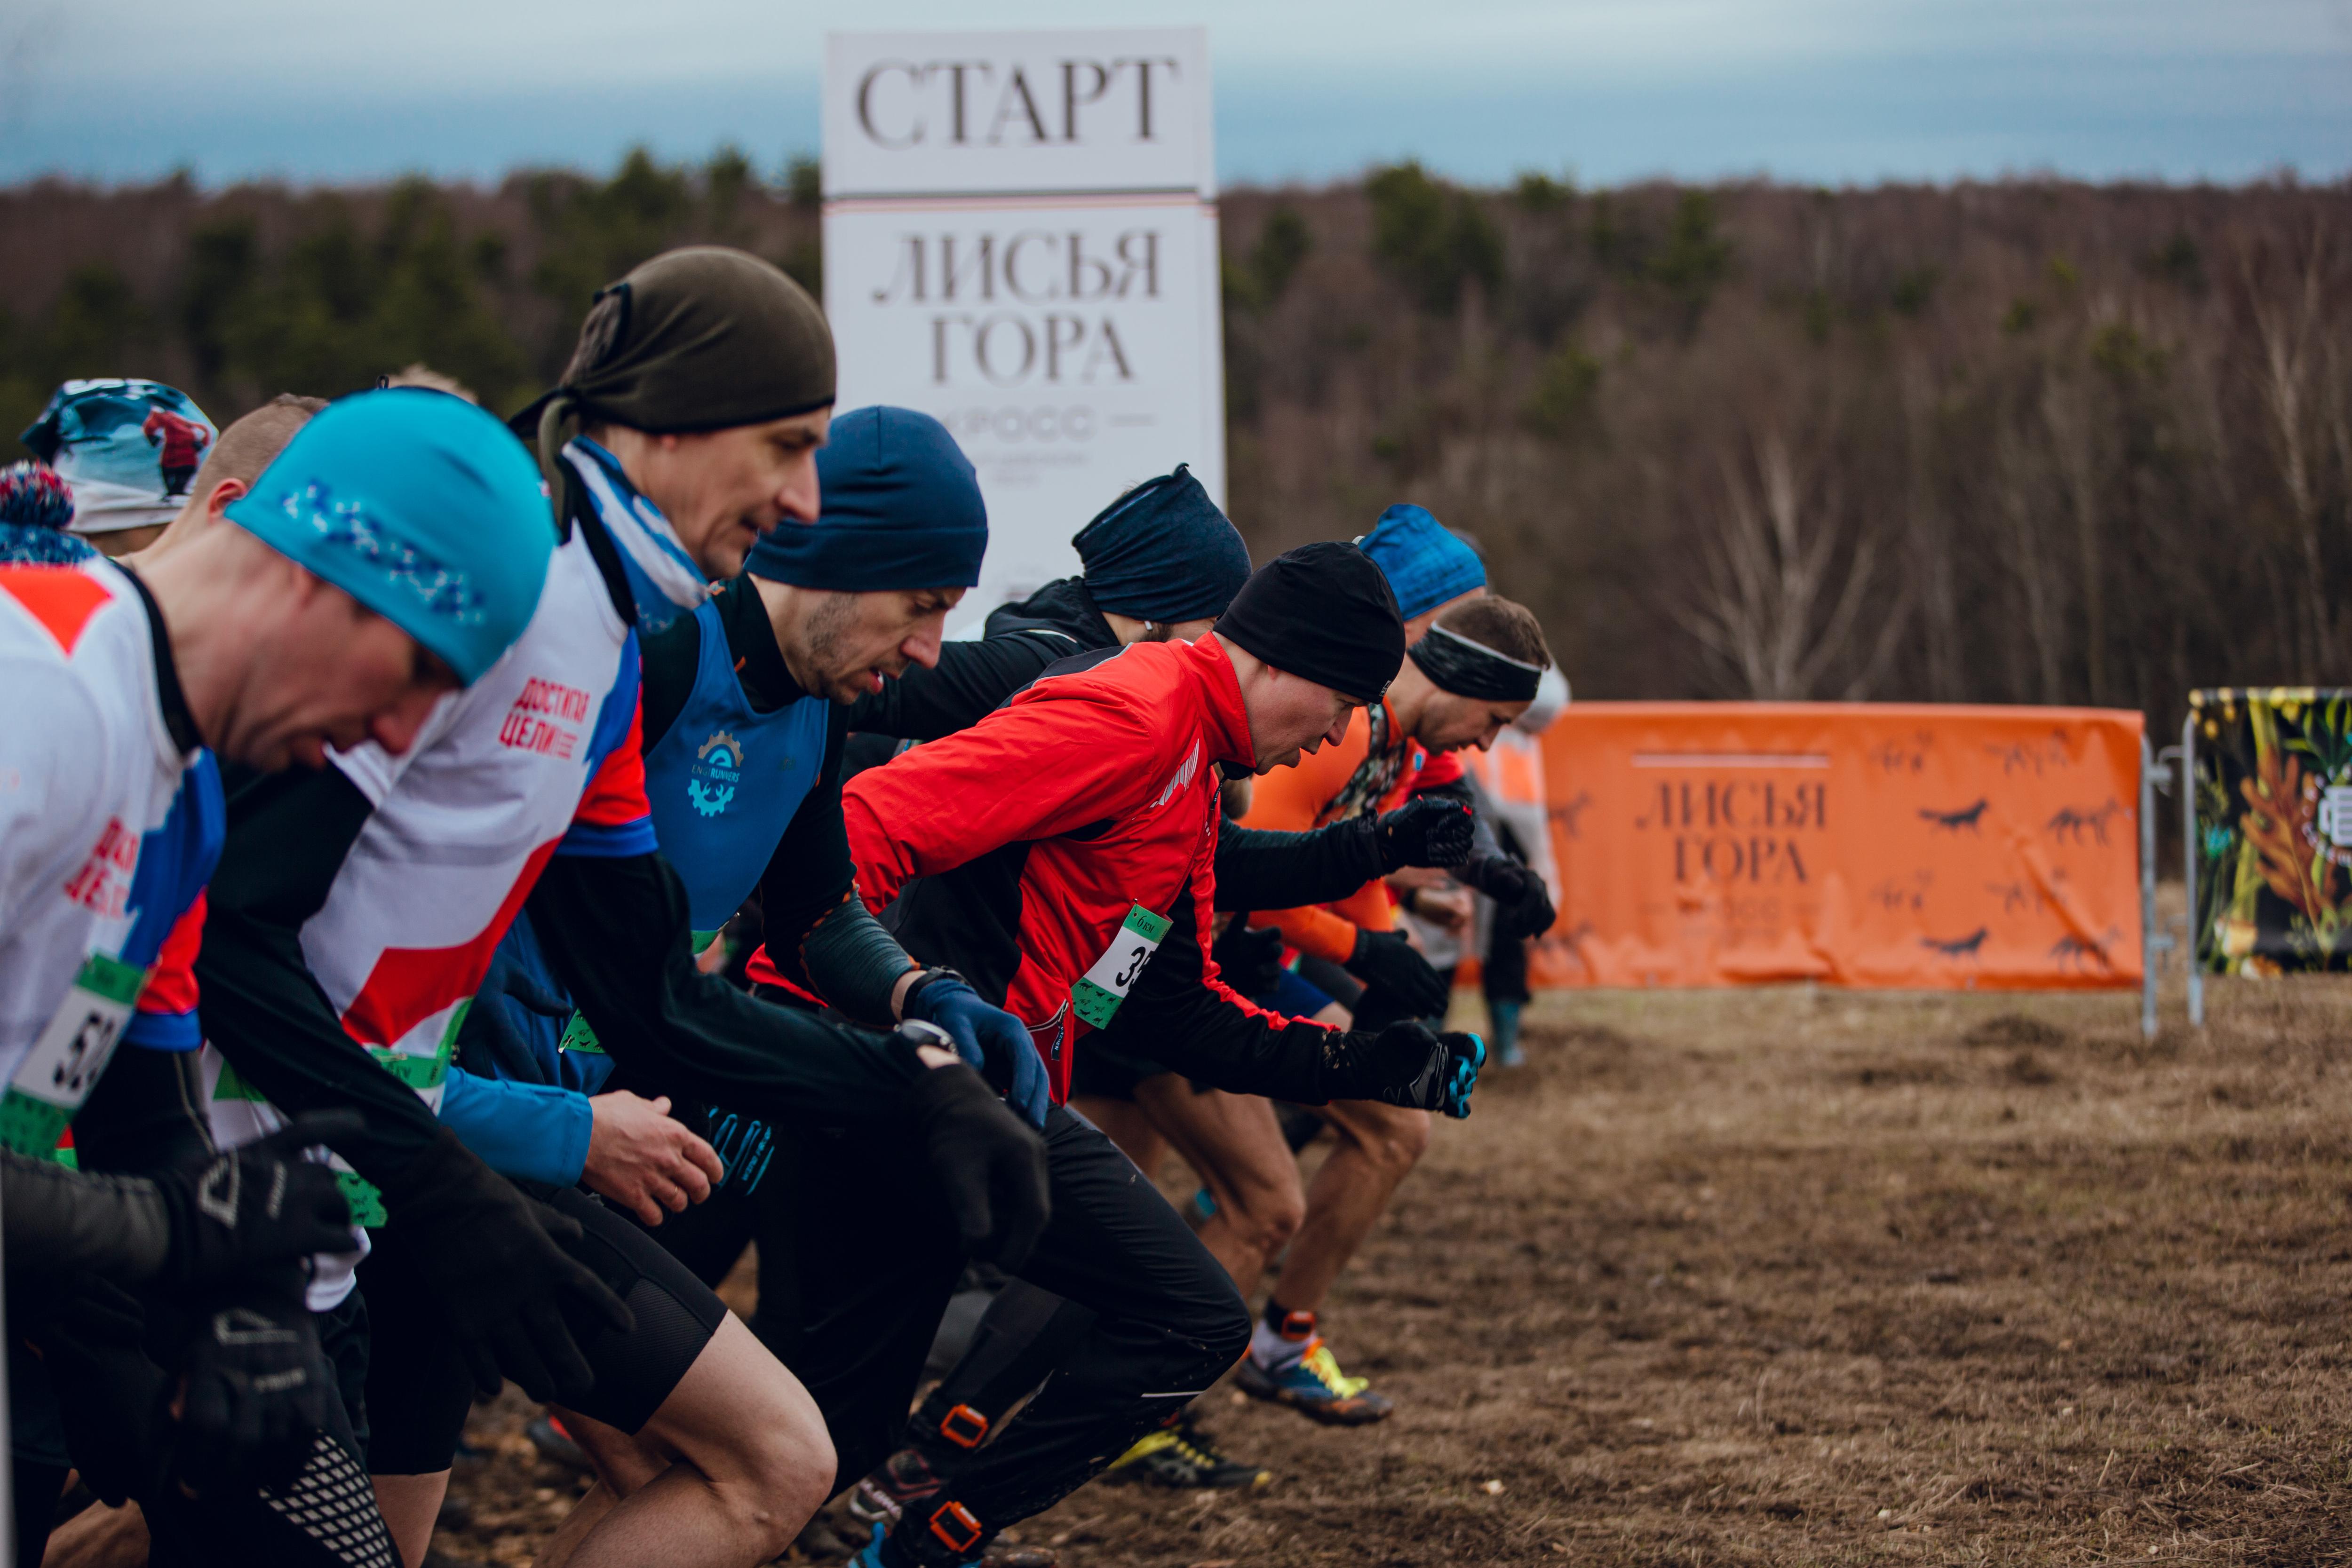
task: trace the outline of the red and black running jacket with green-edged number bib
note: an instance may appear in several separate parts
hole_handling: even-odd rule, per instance
[[[971,729],[849,780],[858,891],[910,954],[960,969],[1030,1027],[1056,1103],[1098,1027],[1237,1093],[1376,1093],[1352,1037],[1251,1006],[1216,976],[1221,762],[1247,769],[1251,745],[1216,637],[1049,670]]]

